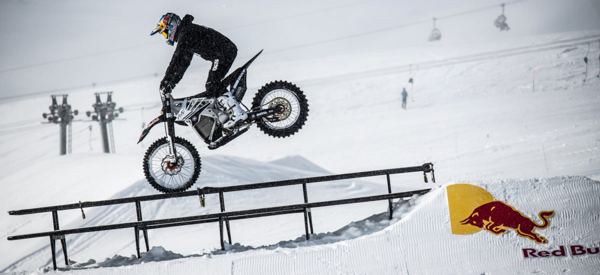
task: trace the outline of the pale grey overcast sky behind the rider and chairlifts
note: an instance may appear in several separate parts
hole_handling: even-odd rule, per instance
[[[261,58],[271,61],[427,44],[432,17],[442,18],[436,25],[449,45],[577,30],[600,33],[600,0],[506,1],[511,30],[499,32],[493,21],[502,13],[502,2],[2,0],[0,100],[162,76],[175,47],[149,33],[167,12],[192,14],[194,23],[227,35],[238,46],[238,58],[265,49],[268,54]],[[443,18],[472,10],[478,11]],[[417,24],[393,28],[410,23]],[[323,42],[328,40],[333,41]],[[192,65],[208,68],[199,57]],[[44,92],[50,90],[56,91]]]

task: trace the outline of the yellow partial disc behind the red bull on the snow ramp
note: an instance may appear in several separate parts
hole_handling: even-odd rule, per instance
[[[446,187],[448,195],[448,210],[450,212],[450,226],[452,234],[467,235],[482,231],[482,228],[472,225],[461,225],[475,208],[494,201],[485,189],[471,184],[452,184]]]

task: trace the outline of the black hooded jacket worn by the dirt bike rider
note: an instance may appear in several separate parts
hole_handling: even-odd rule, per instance
[[[235,56],[238,47],[229,38],[214,29],[192,23],[194,17],[186,14],[175,32],[177,47],[164,74],[163,83],[174,87],[190,66],[194,53],[203,59],[228,59]],[[233,62],[233,61],[232,61]]]

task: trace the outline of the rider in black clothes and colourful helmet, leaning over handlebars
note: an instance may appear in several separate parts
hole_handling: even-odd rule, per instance
[[[170,93],[175,88],[196,53],[212,62],[206,79],[206,95],[218,97],[219,103],[232,110],[232,119],[223,125],[224,128],[230,128],[236,122],[248,118],[248,114],[239,106],[233,93],[228,92],[221,84],[221,80],[226,76],[238,54],[238,48],[225,35],[206,26],[196,25],[191,22],[192,20],[194,17],[190,14],[180,19],[175,13],[167,13],[161,17],[150,33],[154,35],[160,32],[164,38],[167,38],[167,44],[171,46],[177,42],[169,67],[160,82],[160,91]]]

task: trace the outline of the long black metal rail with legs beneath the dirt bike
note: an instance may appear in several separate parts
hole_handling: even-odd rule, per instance
[[[370,202],[370,201],[382,201],[388,200],[388,210],[389,210],[389,219],[392,219],[392,199],[398,198],[409,198],[413,195],[424,194],[429,192],[431,189],[422,189],[415,190],[410,192],[401,192],[401,193],[392,193],[391,181],[389,175],[391,174],[403,174],[410,172],[423,172],[423,177],[425,183],[427,183],[427,173],[431,174],[431,181],[435,183],[434,170],[432,163],[425,163],[421,166],[412,166],[406,168],[394,168],[394,169],[384,169],[377,171],[367,171],[367,172],[357,172],[350,174],[339,174],[339,175],[329,175],[323,177],[311,177],[311,178],[299,178],[294,180],[284,180],[284,181],[272,181],[268,183],[256,183],[256,184],[245,184],[240,186],[228,186],[228,187],[204,187],[202,189],[198,188],[197,190],[178,192],[178,193],[167,193],[160,195],[150,195],[150,196],[137,196],[130,198],[121,198],[121,199],[110,199],[106,201],[93,201],[93,202],[79,202],[76,204],[67,204],[67,205],[55,205],[52,207],[41,207],[41,208],[31,208],[25,210],[15,210],[9,211],[10,215],[25,215],[25,214],[35,214],[35,213],[52,213],[53,220],[53,228],[54,231],[49,232],[39,232],[34,234],[25,234],[25,235],[16,235],[8,237],[8,240],[23,240],[28,238],[40,238],[40,237],[49,237],[50,238],[50,249],[52,252],[52,264],[54,270],[56,270],[56,240],[61,240],[62,252],[64,253],[65,265],[68,265],[68,256],[67,256],[67,242],[65,235],[69,234],[79,234],[85,232],[96,232],[96,231],[109,231],[113,229],[123,229],[123,228],[133,228],[135,232],[136,238],[136,251],[137,257],[140,258],[140,243],[139,243],[139,232],[143,232],[143,237],[146,245],[146,251],[149,250],[148,243],[148,230],[149,229],[157,229],[157,228],[169,228],[173,226],[183,226],[183,225],[196,225],[200,223],[219,223],[219,234],[221,239],[221,249],[224,250],[224,234],[223,227],[226,228],[227,238],[229,243],[231,241],[231,232],[229,228],[230,220],[240,220],[240,219],[252,219],[256,217],[266,217],[266,216],[276,216],[283,214],[293,214],[293,213],[304,213],[304,228],[306,232],[306,239],[308,240],[310,234],[314,234],[313,232],[313,219],[311,214],[311,208],[314,207],[326,207],[332,205],[342,205],[342,204],[355,204],[358,202]],[[307,195],[307,186],[308,183],[319,183],[326,181],[335,181],[335,180],[347,180],[350,178],[364,178],[364,177],[374,177],[386,175],[388,181],[388,193],[384,195],[376,195],[376,196],[365,196],[359,198],[352,199],[339,199],[335,201],[323,201],[323,202],[308,202]],[[225,203],[224,203],[224,193],[226,192],[235,192],[242,190],[253,190],[253,189],[262,189],[262,188],[270,188],[270,187],[281,187],[281,186],[291,186],[302,184],[302,190],[304,195],[304,204],[295,204],[295,205],[284,205],[280,207],[269,207],[269,208],[257,208],[251,210],[242,210],[242,211],[225,211]],[[200,204],[204,206],[204,196],[208,194],[218,194],[221,213],[215,214],[204,214],[199,216],[188,216],[188,217],[178,217],[171,219],[160,219],[160,220],[142,220],[142,201],[155,201],[160,199],[169,199],[169,198],[181,198],[186,196],[198,196]],[[98,225],[98,226],[89,226],[84,228],[74,228],[74,229],[59,229],[59,219],[58,219],[58,211],[61,210],[74,210],[80,209],[82,212],[82,217],[85,219],[85,213],[83,208],[89,207],[100,207],[106,205],[116,205],[116,204],[128,204],[134,203],[136,205],[136,214],[137,214],[137,222],[129,222],[129,223],[118,223],[113,225]],[[225,226],[223,226],[225,225]],[[309,234],[310,228],[310,234]]]

